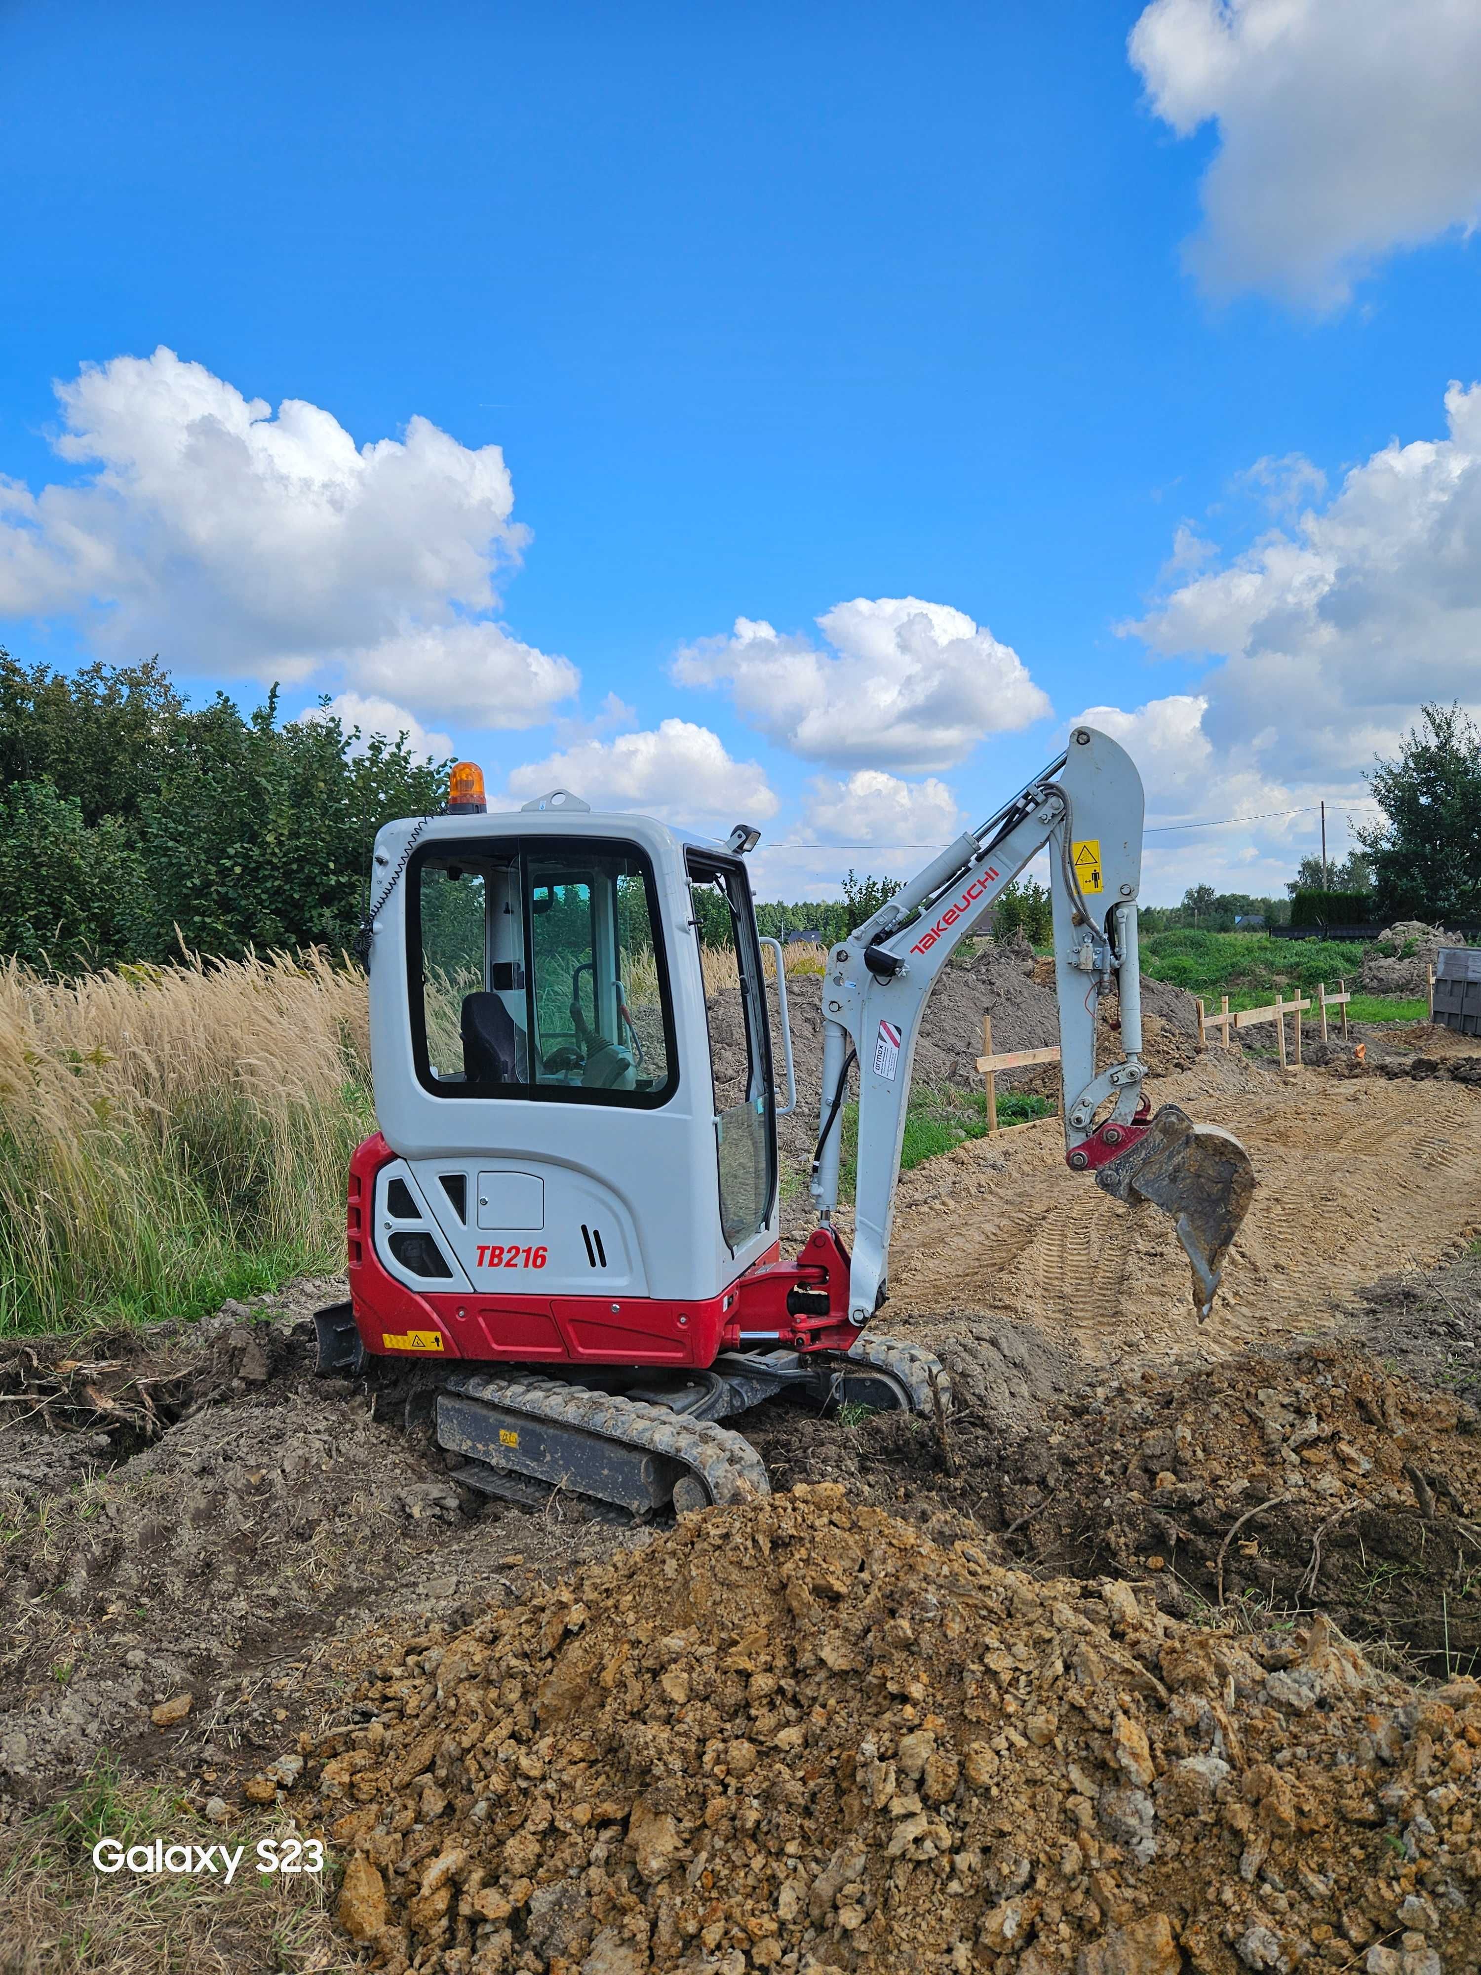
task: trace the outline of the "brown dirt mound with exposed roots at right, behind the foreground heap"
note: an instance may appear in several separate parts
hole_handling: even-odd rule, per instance
[[[1141,1373],[1068,1400],[1035,1562],[1171,1610],[1321,1606],[1434,1673],[1481,1665],[1481,1414],[1351,1345]]]

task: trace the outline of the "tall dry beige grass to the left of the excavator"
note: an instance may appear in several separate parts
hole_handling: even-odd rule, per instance
[[[320,956],[0,966],[0,1333],[194,1313],[340,1266],[365,980]]]

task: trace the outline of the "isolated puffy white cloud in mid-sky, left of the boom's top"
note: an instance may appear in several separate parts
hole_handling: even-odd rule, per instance
[[[737,618],[673,662],[683,685],[727,685],[770,741],[841,768],[950,768],[991,733],[1051,711],[1023,660],[948,604],[855,596],[818,618],[831,650]]]

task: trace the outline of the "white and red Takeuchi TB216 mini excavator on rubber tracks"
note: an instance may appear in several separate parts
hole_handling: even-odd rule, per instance
[[[1143,1090],[1141,778],[1094,727],[825,954],[823,1086],[794,1260],[776,1120],[796,1108],[786,972],[744,857],[569,790],[387,824],[363,952],[379,1132],[350,1165],[350,1302],[320,1367],[411,1363],[458,1479],[636,1515],[766,1493],[725,1420],[794,1390],[940,1412],[950,1379],[879,1335],[910,1068],[936,976],[1049,851],[1068,1165],[1165,1209],[1207,1315],[1250,1203],[1244,1147]],[[774,950],[780,1086],[762,950]],[[1118,989],[1122,1059],[1096,1068]],[[857,1066],[851,1246],[835,1226]]]

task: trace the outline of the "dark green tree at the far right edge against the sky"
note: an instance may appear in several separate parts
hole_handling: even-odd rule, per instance
[[[1357,831],[1382,918],[1481,922],[1481,729],[1424,705],[1392,760],[1368,772],[1382,822]]]

